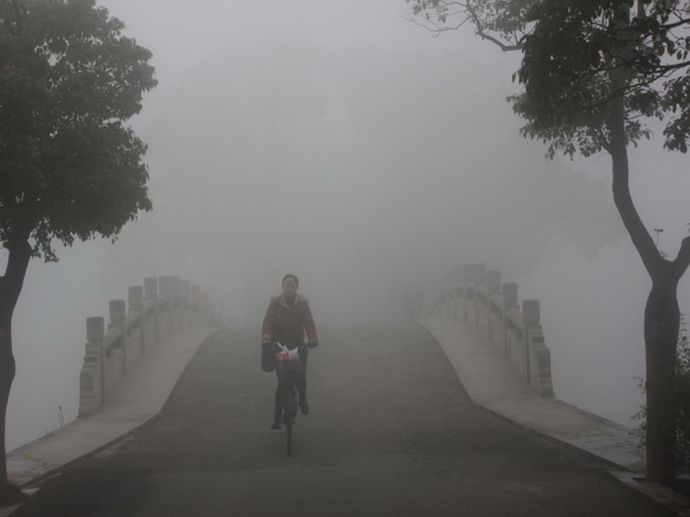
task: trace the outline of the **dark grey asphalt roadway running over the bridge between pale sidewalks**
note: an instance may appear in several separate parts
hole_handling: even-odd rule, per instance
[[[469,403],[414,324],[322,328],[293,457],[257,330],[210,338],[160,418],[68,467],[21,516],[667,516],[609,466]]]

